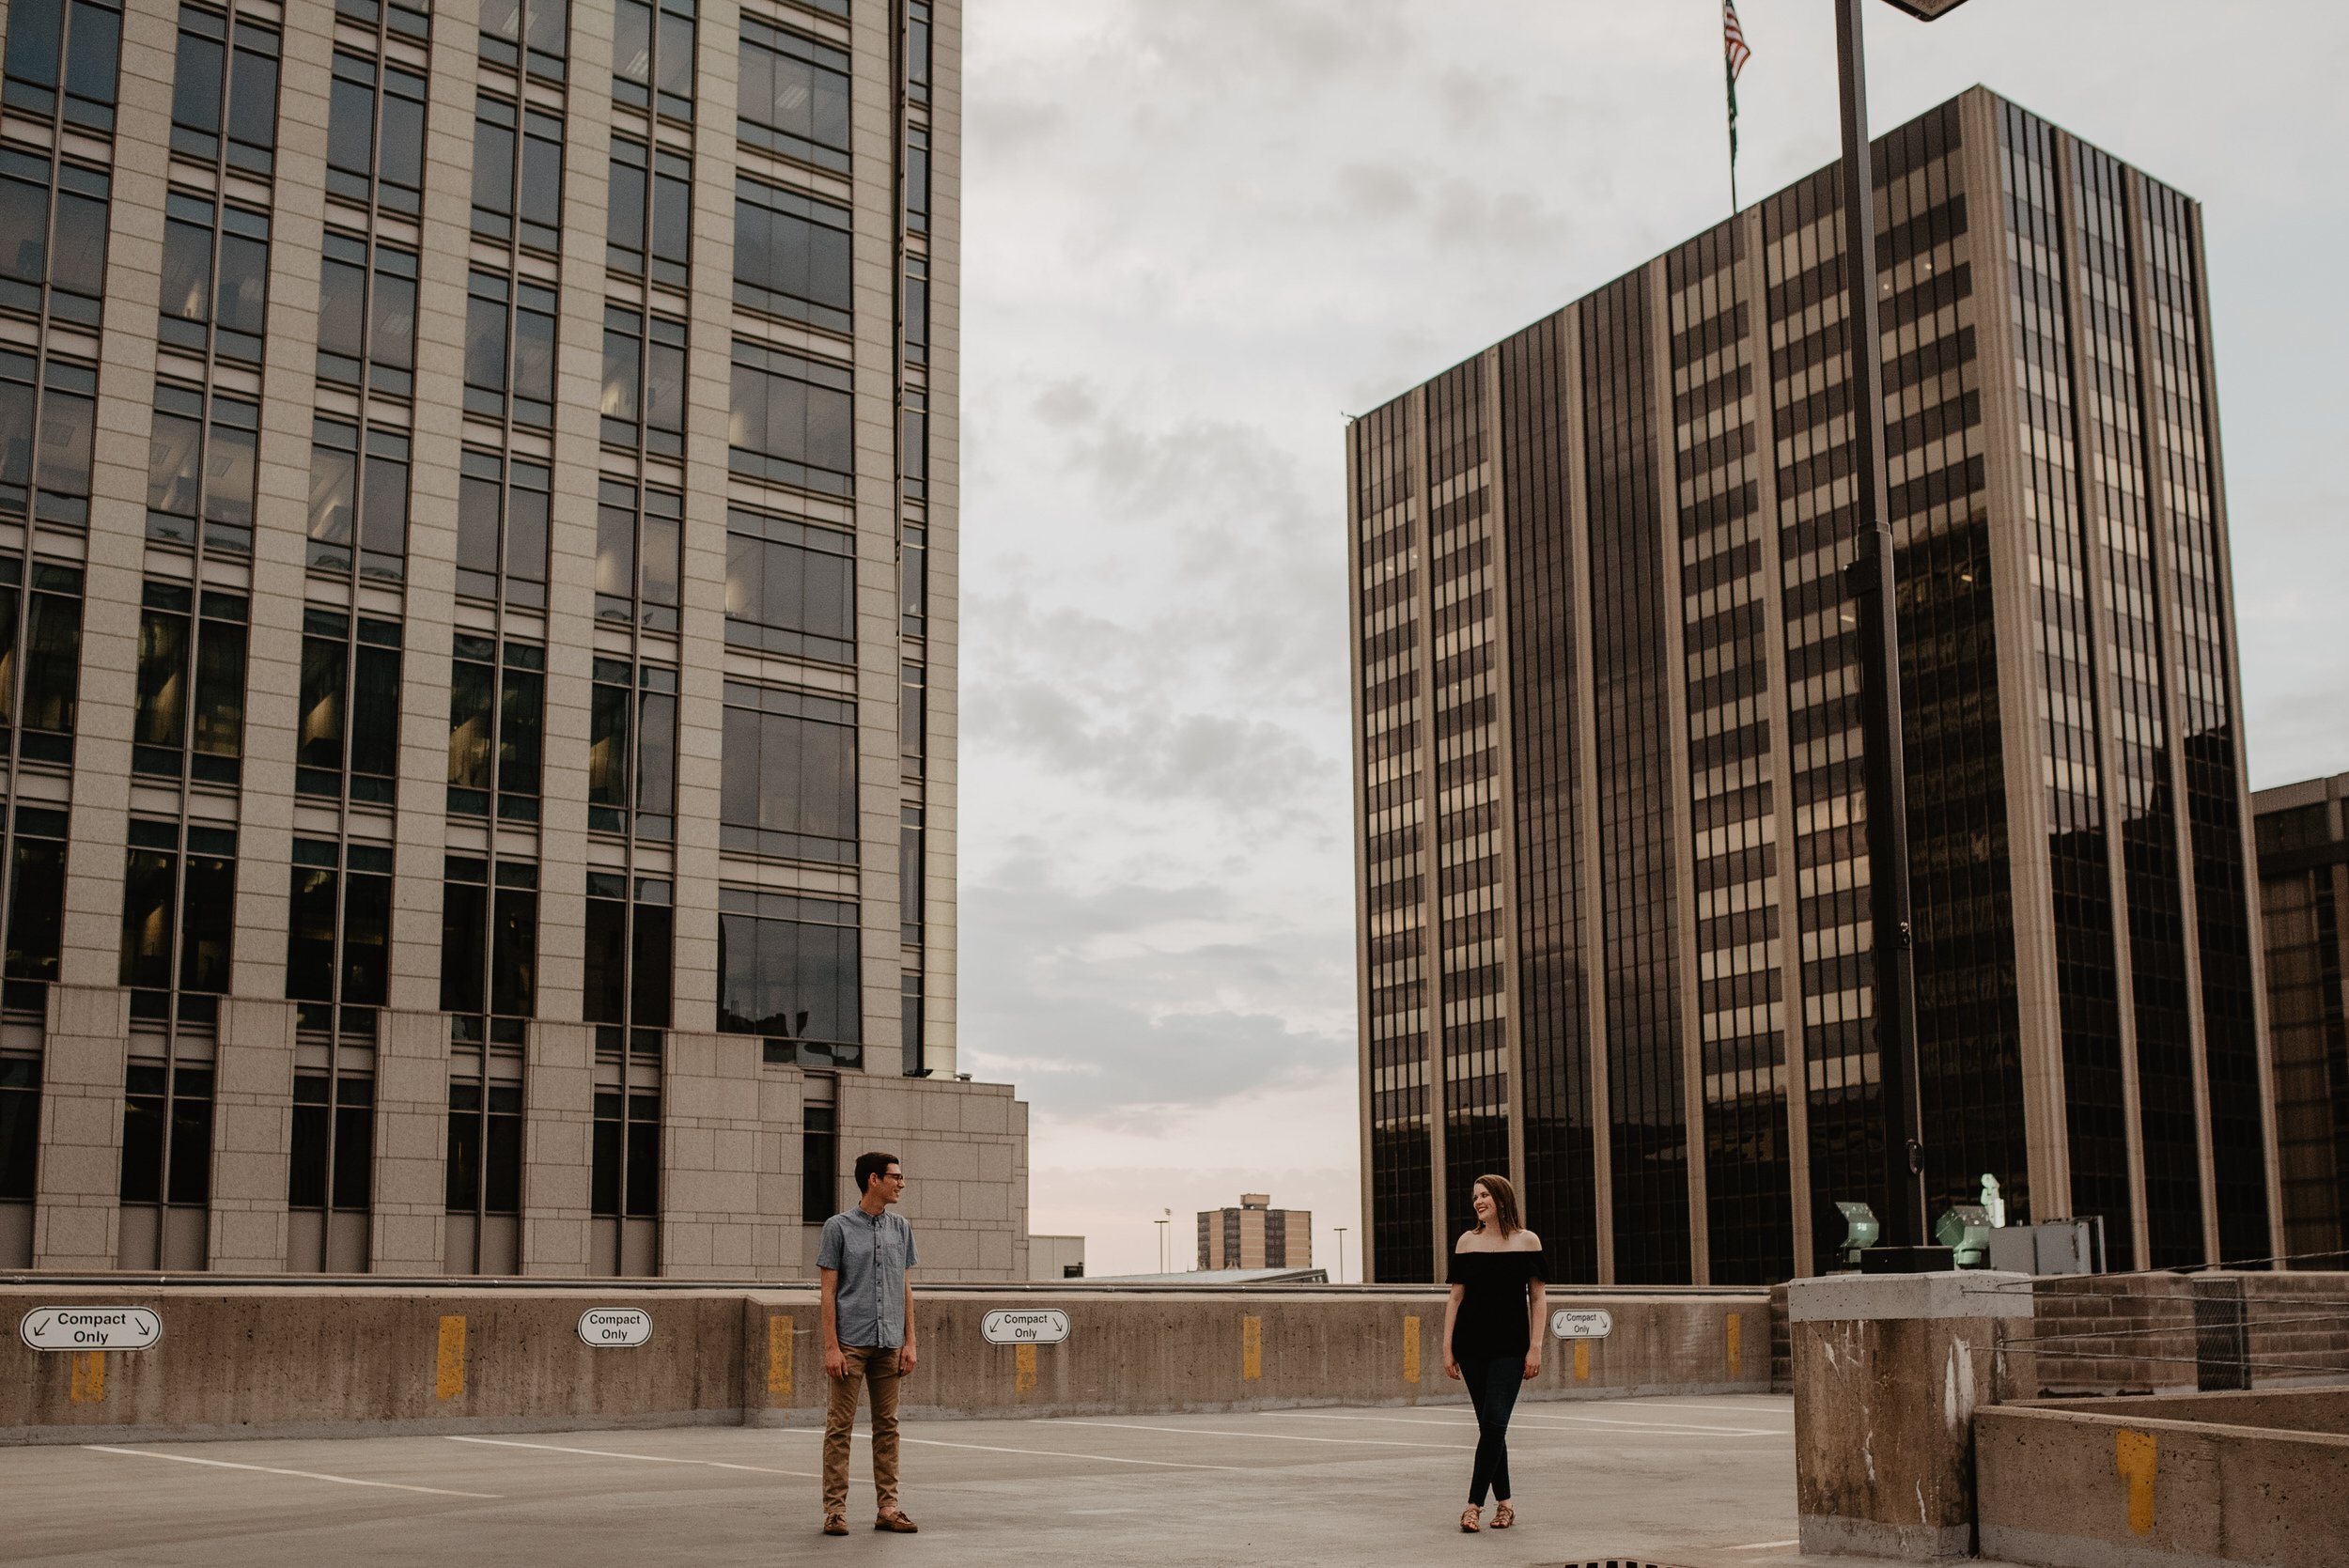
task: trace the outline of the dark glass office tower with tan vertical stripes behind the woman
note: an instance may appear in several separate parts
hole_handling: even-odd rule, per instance
[[[1933,1211],[2264,1258],[2199,207],[1983,89],[1877,148]],[[1480,1171],[1560,1279],[1884,1204],[1837,174],[1348,430],[1374,1279]]]

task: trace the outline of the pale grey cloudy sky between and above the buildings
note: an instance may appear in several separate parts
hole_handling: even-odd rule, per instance
[[[1835,157],[1825,0],[1743,0],[1738,190]],[[1727,214],[1712,0],[968,0],[963,1068],[1031,1225],[1358,1225],[1344,415]],[[2349,12],[1872,7],[2206,204],[2255,784],[2349,770]],[[1348,1277],[1358,1270],[1348,1232]]]

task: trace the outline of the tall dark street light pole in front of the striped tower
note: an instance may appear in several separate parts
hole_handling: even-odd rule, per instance
[[[1844,573],[1860,613],[1860,742],[1867,758],[1867,904],[1875,922],[1875,1028],[1884,1106],[1884,1242],[1921,1246],[1924,1113],[1917,1099],[1917,962],[1910,930],[1907,768],[1900,737],[1900,615],[1893,596],[1891,495],[1884,481],[1884,336],[1877,322],[1877,188],[1867,146],[1860,9],[1835,0],[1844,110],[1844,331],[1851,357],[1851,469],[1858,502]],[[1893,0],[1896,5],[1900,0]],[[1905,5],[1940,14],[1950,5]]]

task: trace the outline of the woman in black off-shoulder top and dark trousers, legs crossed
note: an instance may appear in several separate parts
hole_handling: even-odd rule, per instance
[[[1517,1190],[1506,1176],[1478,1176],[1475,1230],[1452,1249],[1452,1300],[1445,1303],[1445,1376],[1468,1385],[1475,1406],[1475,1474],[1461,1530],[1482,1526],[1485,1488],[1501,1507],[1492,1528],[1517,1523],[1508,1507],[1508,1413],[1517,1385],[1541,1376],[1541,1237],[1517,1218]]]

